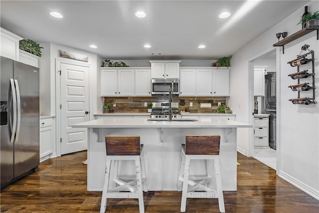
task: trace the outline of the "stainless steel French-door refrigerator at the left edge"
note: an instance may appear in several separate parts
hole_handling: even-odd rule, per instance
[[[1,188],[38,170],[39,69],[1,56]]]

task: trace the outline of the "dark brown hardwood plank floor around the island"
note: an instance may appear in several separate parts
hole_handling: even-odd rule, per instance
[[[97,213],[101,192],[86,190],[86,152],[40,164],[40,170],[1,190],[6,213]],[[236,192],[224,192],[226,213],[319,213],[319,201],[276,176],[254,158],[238,154]],[[146,213],[178,213],[180,192],[145,193]],[[108,199],[108,213],[138,213],[137,200]],[[187,199],[187,213],[218,213],[217,199]]]

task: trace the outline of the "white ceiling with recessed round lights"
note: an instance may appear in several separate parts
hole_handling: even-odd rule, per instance
[[[102,58],[218,59],[232,55],[307,2],[1,0],[0,25],[25,39],[74,47]],[[240,15],[239,11],[249,4],[255,6]],[[144,10],[147,16],[136,17],[138,10]],[[231,16],[218,18],[226,10]],[[50,11],[64,17],[53,18]],[[275,34],[273,40],[276,43]],[[152,47],[144,48],[146,43]],[[92,49],[90,44],[98,48]],[[197,48],[200,44],[206,48]]]

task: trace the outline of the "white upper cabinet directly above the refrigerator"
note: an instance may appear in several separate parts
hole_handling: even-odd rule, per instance
[[[23,38],[0,28],[0,55],[19,61],[19,40]]]

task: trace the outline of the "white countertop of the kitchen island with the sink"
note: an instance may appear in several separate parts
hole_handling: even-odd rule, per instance
[[[101,118],[72,125],[73,128],[250,128],[251,124],[222,118],[198,121],[148,121],[149,118]]]

